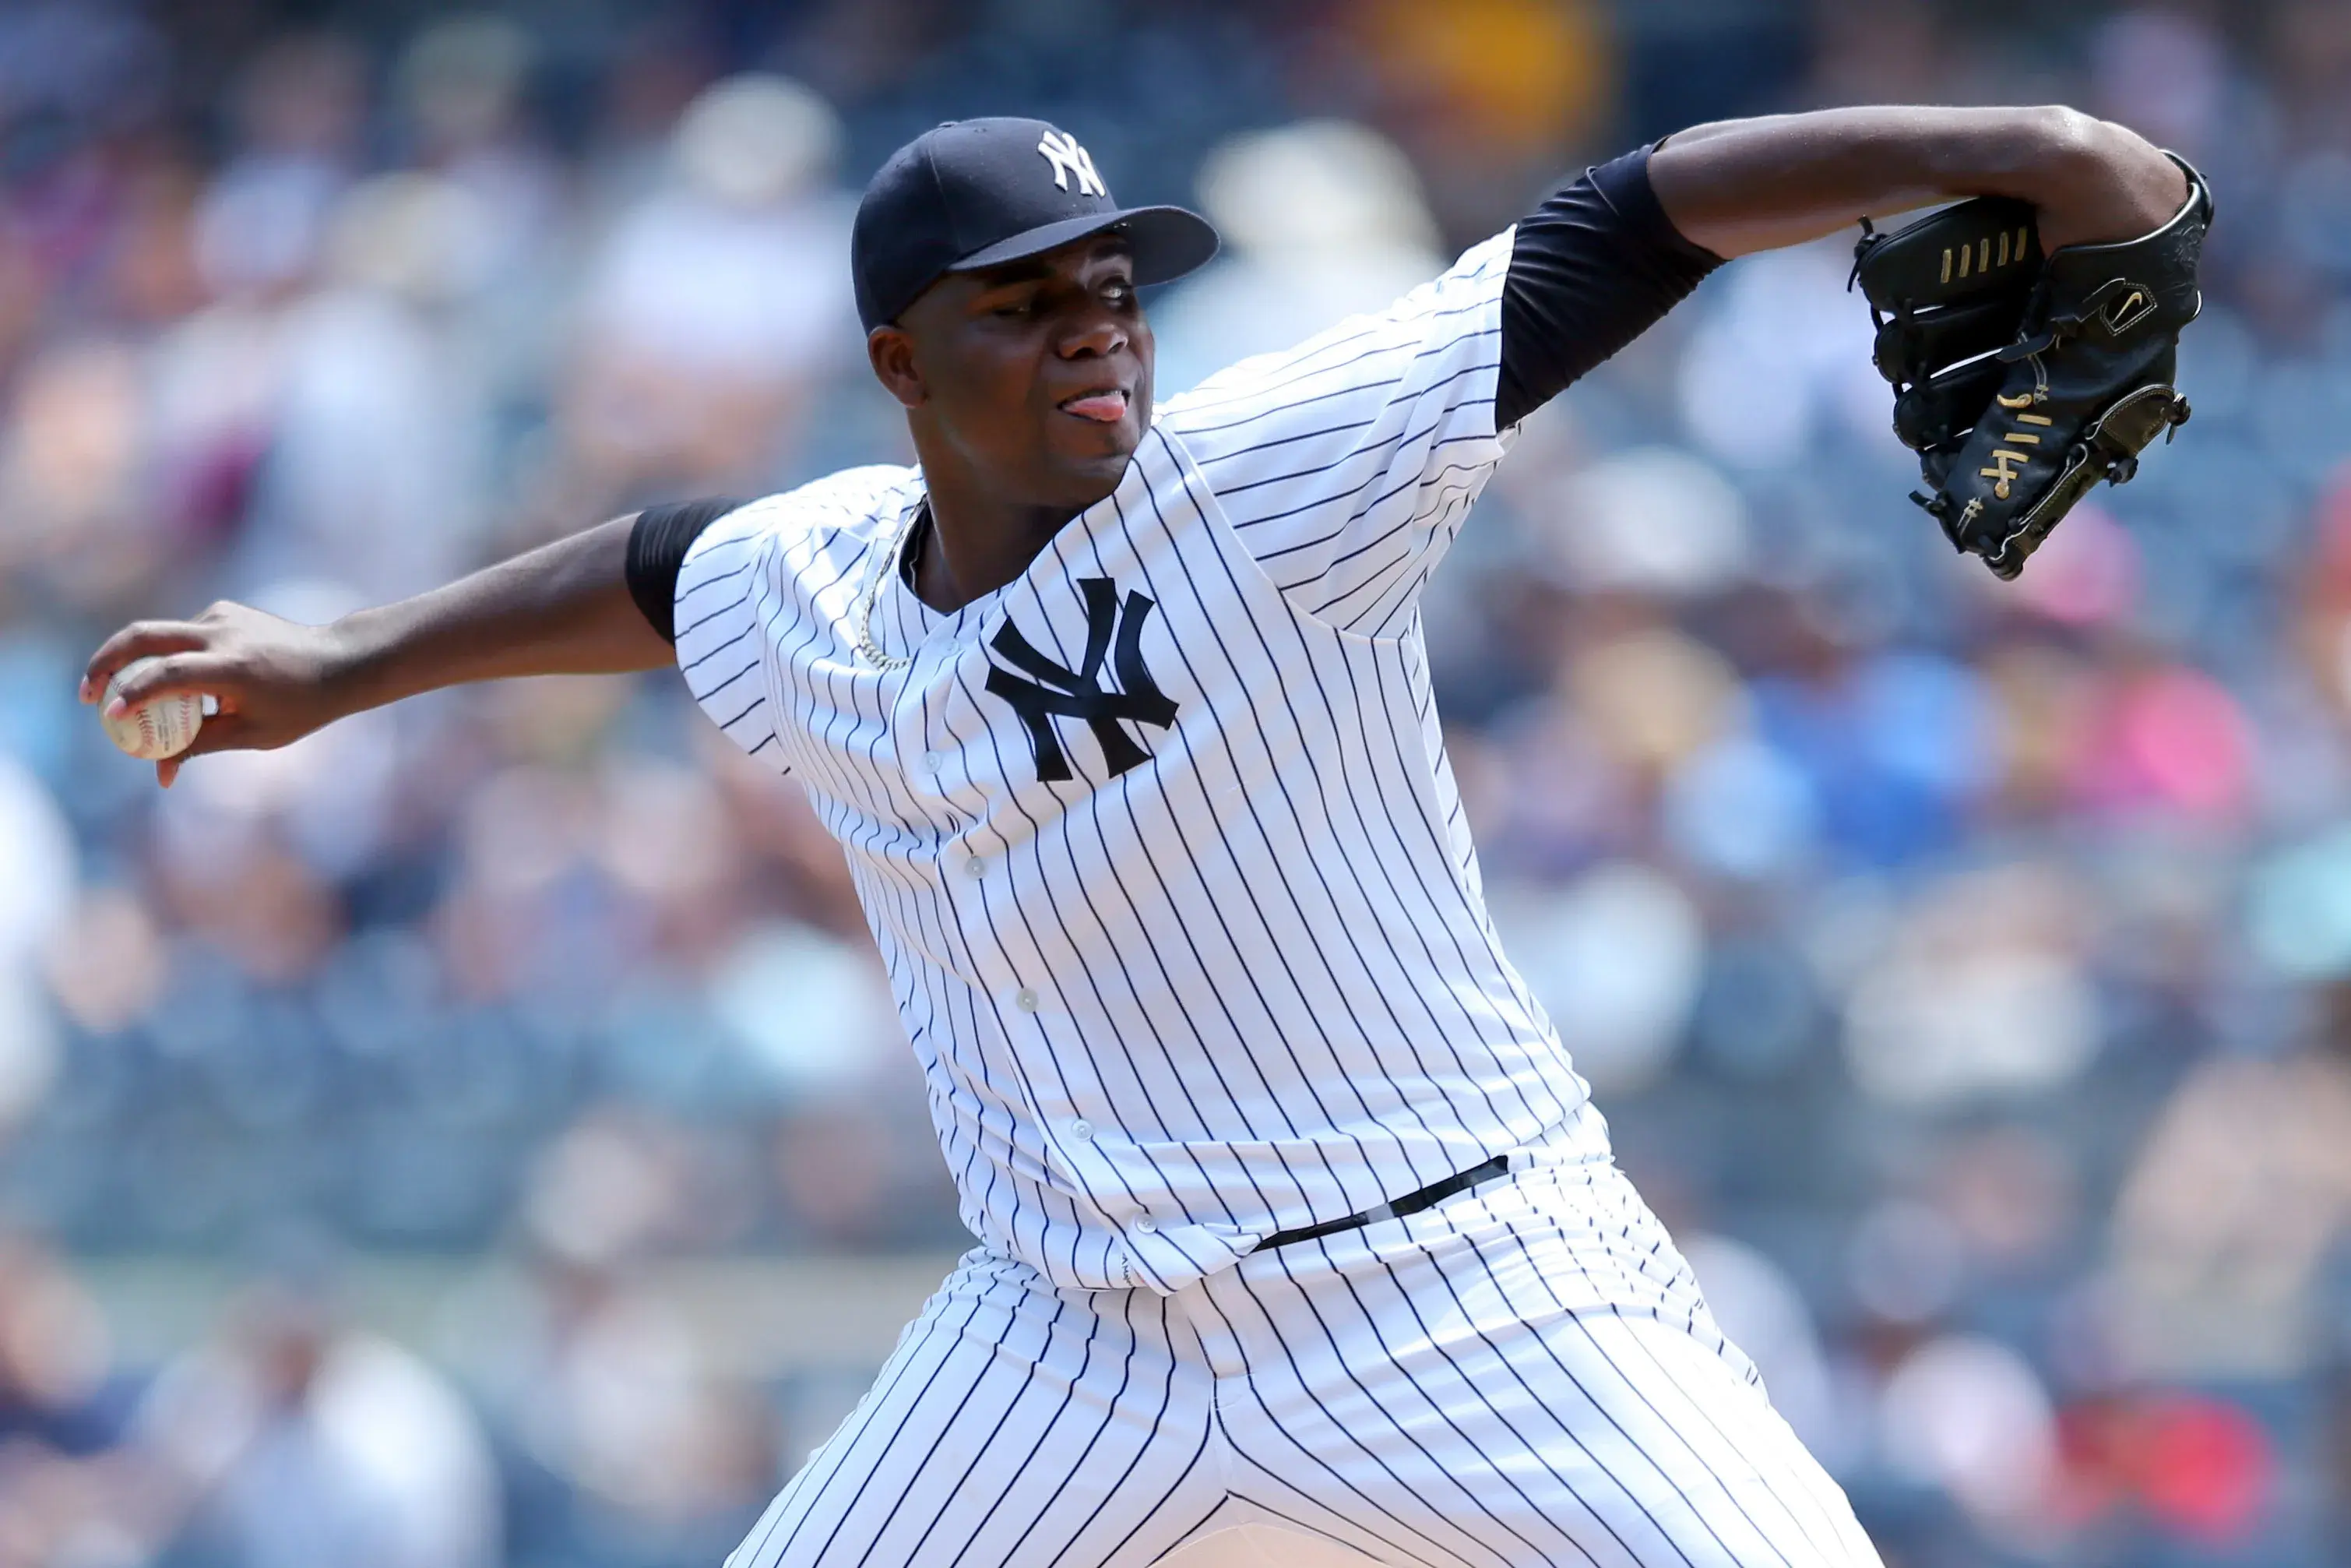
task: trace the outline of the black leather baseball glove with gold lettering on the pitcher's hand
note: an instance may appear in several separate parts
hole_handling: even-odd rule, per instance
[[[2203,308],[2212,190],[2172,162],[2186,205],[2118,244],[2043,259],[2031,205],[1991,195],[1895,233],[1862,226],[1853,280],[1895,383],[1895,435],[1928,484],[1911,501],[2001,578],[2092,484],[2130,480],[2139,451],[2186,423],[2172,378],[2179,329]]]

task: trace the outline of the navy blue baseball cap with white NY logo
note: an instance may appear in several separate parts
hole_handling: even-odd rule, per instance
[[[1215,228],[1183,207],[1119,207],[1077,136],[1044,120],[950,120],[889,155],[849,235],[858,317],[872,331],[947,273],[1037,256],[1117,230],[1136,282],[1183,277]]]

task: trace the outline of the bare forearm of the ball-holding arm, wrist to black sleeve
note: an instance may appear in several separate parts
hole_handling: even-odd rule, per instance
[[[665,668],[675,651],[628,592],[616,517],[484,567],[414,599],[362,609],[329,630],[346,712],[463,682]]]

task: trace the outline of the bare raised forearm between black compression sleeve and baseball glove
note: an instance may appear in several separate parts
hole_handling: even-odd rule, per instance
[[[2137,134],[2071,108],[1824,108],[1676,132],[1650,158],[1657,202],[1719,256],[1799,244],[1862,214],[1963,195],[2041,207],[2045,249],[2128,240],[2186,200]]]

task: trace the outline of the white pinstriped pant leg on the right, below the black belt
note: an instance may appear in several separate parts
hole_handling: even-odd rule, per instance
[[[1234,1490],[1382,1561],[1876,1566],[1606,1164],[1255,1255],[1201,1291],[1248,1366],[1218,1394]]]

